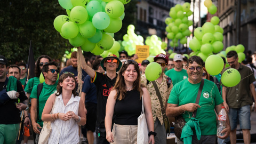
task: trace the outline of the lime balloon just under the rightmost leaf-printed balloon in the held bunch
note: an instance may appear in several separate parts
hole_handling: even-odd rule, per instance
[[[122,25],[121,18],[110,18],[109,26],[104,30],[108,33],[117,33],[122,28]]]

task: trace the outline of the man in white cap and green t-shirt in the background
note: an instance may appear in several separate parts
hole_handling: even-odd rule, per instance
[[[183,57],[175,54],[173,58],[174,68],[166,71],[166,75],[172,79],[173,86],[188,77],[187,71],[183,69]]]

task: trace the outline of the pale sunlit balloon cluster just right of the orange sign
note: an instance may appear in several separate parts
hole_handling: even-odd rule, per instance
[[[167,44],[165,42],[161,41],[160,37],[157,37],[156,35],[151,35],[146,38],[145,44],[149,46],[149,54],[150,55],[157,55],[159,53],[164,53],[165,47]]]

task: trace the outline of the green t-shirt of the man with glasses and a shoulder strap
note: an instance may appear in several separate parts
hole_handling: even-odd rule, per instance
[[[201,83],[191,84],[188,82],[188,78],[181,81],[177,85],[173,86],[168,103],[172,103],[178,106],[185,105],[187,103],[195,103],[198,93],[198,89]],[[223,102],[220,92],[213,82],[204,79],[204,86],[199,100],[199,106],[196,113],[196,119],[199,120],[199,125],[202,135],[215,135],[217,134],[215,106],[220,105]],[[193,116],[193,113],[186,111],[182,115],[185,121],[189,121],[189,117]]]

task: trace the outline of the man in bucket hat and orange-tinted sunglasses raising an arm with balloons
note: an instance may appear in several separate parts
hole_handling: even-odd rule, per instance
[[[79,54],[82,69],[91,77],[91,82],[97,87],[96,141],[99,144],[108,144],[105,129],[106,104],[110,90],[116,83],[116,72],[122,67],[122,62],[115,54],[108,55],[100,62],[103,70],[107,71],[106,74],[102,74],[87,66],[82,52],[79,52]]]

